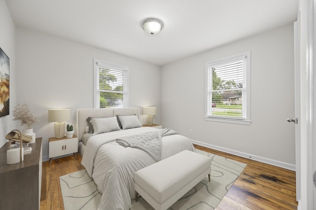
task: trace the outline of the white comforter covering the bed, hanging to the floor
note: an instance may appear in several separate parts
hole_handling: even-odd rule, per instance
[[[129,210],[131,199],[135,198],[134,173],[156,162],[145,151],[123,147],[115,140],[155,130],[150,127],[121,130],[95,135],[88,140],[81,164],[102,193],[98,210]],[[195,151],[190,140],[181,135],[161,140],[161,159],[183,150]]]

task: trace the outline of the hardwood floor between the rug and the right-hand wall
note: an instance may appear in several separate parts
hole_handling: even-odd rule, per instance
[[[247,164],[217,210],[296,210],[295,172],[195,145]]]

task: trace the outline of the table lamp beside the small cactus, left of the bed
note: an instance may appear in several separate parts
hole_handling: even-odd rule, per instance
[[[55,138],[61,139],[65,136],[66,124],[63,121],[70,120],[70,109],[48,109],[48,122],[54,124]]]

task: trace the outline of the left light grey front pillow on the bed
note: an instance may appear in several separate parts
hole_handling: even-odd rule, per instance
[[[90,122],[93,126],[93,134],[102,134],[120,130],[116,117],[93,118]]]

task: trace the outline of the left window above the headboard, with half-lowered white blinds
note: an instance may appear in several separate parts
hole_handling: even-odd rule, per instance
[[[94,107],[128,104],[128,67],[94,60]]]

